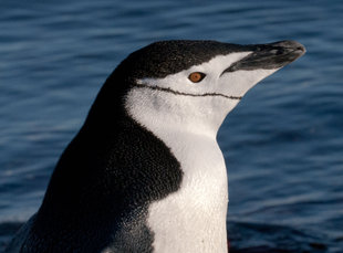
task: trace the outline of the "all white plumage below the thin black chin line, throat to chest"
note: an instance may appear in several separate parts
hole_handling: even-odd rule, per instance
[[[180,189],[149,207],[154,247],[156,252],[226,252],[227,172],[216,135],[227,112],[206,112],[204,104],[197,112],[194,101],[187,101],[204,98],[149,93],[132,89],[126,109],[166,144],[184,172]]]

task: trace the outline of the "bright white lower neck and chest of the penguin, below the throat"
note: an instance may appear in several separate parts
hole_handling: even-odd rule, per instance
[[[227,173],[216,140],[167,133],[158,137],[179,160],[184,178],[177,192],[149,207],[155,252],[227,252]]]

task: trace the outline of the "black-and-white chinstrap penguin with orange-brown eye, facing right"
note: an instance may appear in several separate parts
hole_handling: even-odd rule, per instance
[[[304,52],[293,41],[162,41],[132,53],[6,252],[227,252],[217,131],[252,86]]]

